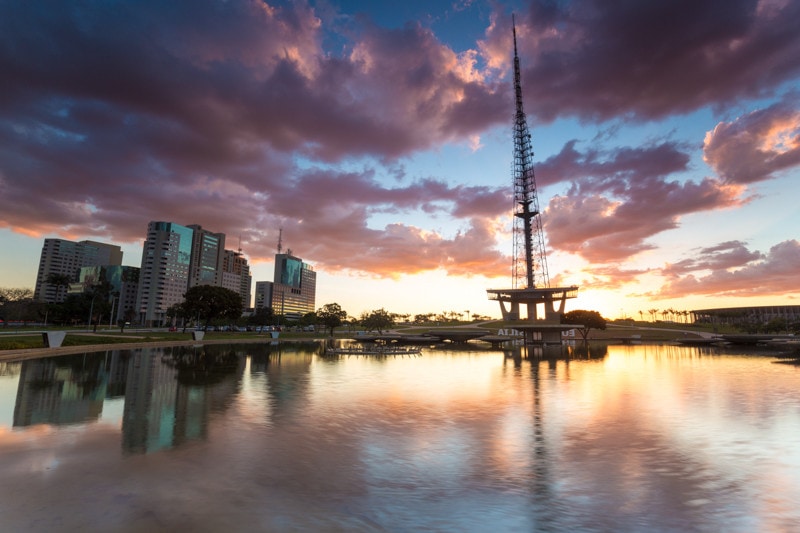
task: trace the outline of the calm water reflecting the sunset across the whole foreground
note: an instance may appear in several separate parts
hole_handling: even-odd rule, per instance
[[[0,529],[800,530],[800,367],[774,356],[320,353],[0,364]]]

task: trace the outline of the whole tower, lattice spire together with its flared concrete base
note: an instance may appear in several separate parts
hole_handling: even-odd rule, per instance
[[[513,20],[513,19],[512,19]],[[490,300],[500,302],[504,320],[520,320],[521,307],[529,321],[558,323],[567,299],[578,296],[578,287],[550,287],[544,230],[539,209],[536,177],[533,172],[533,148],[528,121],[522,106],[522,82],[517,53],[517,29],[514,35],[514,184],[513,252],[510,289],[487,289]],[[558,303],[558,309],[556,309]],[[541,311],[539,309],[541,308]]]

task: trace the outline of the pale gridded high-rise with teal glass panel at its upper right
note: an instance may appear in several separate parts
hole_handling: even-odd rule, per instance
[[[142,324],[160,325],[167,309],[183,302],[189,287],[194,230],[174,222],[147,226],[136,309]]]

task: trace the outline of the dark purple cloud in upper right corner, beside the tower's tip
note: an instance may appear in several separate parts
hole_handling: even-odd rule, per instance
[[[526,110],[546,121],[663,118],[773,95],[800,72],[800,2],[528,5],[517,17]],[[507,19],[487,35],[486,53],[507,53]]]

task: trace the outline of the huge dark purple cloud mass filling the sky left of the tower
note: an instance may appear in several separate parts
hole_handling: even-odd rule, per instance
[[[298,241],[372,243],[377,263],[393,254],[370,214],[441,211],[465,233],[398,226],[389,240],[427,246],[433,268],[474,235],[490,250],[471,219],[497,214],[497,190],[298,170],[298,156],[392,159],[502,119],[497,88],[418,24],[367,24],[345,56],[320,48],[320,24],[302,4],[0,6],[0,224],[130,241],[151,219],[201,223],[242,235],[258,258],[286,223]],[[341,262],[342,248],[319,250],[319,264]]]

